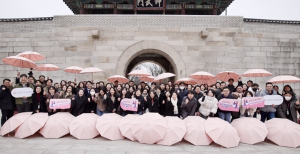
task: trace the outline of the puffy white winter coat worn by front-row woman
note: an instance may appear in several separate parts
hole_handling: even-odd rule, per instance
[[[216,113],[217,111],[217,99],[212,96],[204,96],[204,100],[202,101],[203,97],[198,99],[198,102],[201,104],[199,111],[202,115],[208,116],[210,113]]]

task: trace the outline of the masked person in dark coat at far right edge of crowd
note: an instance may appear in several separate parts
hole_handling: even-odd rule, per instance
[[[299,100],[293,97],[293,92],[286,91],[283,95],[283,102],[276,108],[279,118],[287,118],[291,121],[297,121],[296,109],[300,109]]]

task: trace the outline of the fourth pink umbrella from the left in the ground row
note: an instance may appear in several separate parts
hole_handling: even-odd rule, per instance
[[[78,139],[92,139],[99,134],[96,122],[99,116],[94,113],[82,113],[74,117],[69,124],[70,134]]]

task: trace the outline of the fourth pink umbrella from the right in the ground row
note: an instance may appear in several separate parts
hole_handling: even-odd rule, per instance
[[[209,145],[212,139],[206,134],[204,121],[200,116],[187,116],[183,119],[186,125],[184,139],[194,145]]]

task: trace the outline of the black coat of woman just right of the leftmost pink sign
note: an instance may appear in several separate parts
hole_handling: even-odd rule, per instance
[[[84,94],[80,97],[78,93],[73,98],[74,100],[71,99],[72,115],[78,116],[84,112],[87,98]]]

